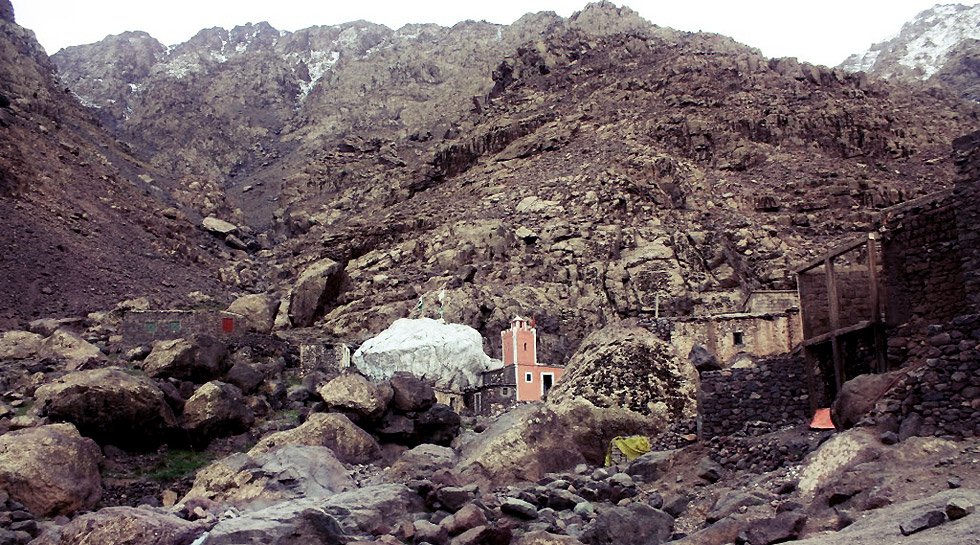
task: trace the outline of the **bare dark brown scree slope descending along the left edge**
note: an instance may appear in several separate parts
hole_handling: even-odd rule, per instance
[[[0,20],[0,324],[79,315],[137,295],[211,290],[211,244],[67,95],[31,31]]]

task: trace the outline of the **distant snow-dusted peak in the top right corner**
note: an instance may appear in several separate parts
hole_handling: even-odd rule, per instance
[[[901,81],[941,82],[980,100],[980,6],[937,4],[897,36],[848,57],[839,68]]]

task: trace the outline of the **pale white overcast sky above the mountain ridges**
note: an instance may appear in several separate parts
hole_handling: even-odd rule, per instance
[[[531,11],[569,16],[585,0],[12,0],[17,22],[45,50],[97,42],[109,34],[144,30],[166,45],[197,31],[268,21],[280,30],[357,19],[399,28],[406,23],[452,25],[466,19],[509,24]],[[960,2],[975,5],[980,0]],[[652,23],[725,34],[769,57],[798,57],[833,66],[851,53],[897,34],[934,0],[632,0]]]

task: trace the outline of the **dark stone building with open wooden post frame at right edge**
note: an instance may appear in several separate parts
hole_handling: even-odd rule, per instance
[[[814,408],[904,362],[903,339],[980,313],[980,131],[953,147],[955,187],[882,210],[877,232],[797,270]]]

